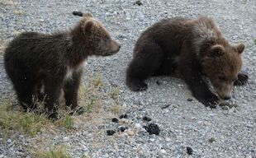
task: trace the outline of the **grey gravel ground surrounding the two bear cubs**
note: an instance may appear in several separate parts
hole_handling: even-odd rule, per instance
[[[121,51],[107,58],[89,58],[83,81],[89,80],[88,73],[102,74],[107,83],[103,91],[120,87],[121,106],[128,116],[119,123],[111,123],[109,119],[86,123],[71,133],[40,132],[36,137],[18,133],[7,142],[0,134],[0,157],[31,157],[31,146],[36,148],[43,143],[38,141],[40,138],[49,146],[67,145],[72,157],[256,157],[256,1],[144,0],[142,4],[134,5],[134,1],[128,0],[0,0],[1,43],[25,30],[52,32],[69,28],[79,19],[71,13],[75,10],[92,12],[102,21],[121,43]],[[247,44],[244,72],[249,74],[249,84],[235,87],[230,100],[238,107],[208,109],[192,97],[181,79],[173,77],[149,79],[149,89],[145,92],[127,89],[125,72],[135,41],[148,26],[172,16],[211,16],[227,39]],[[0,94],[1,100],[13,96],[2,55]],[[188,98],[192,101],[187,101]],[[144,121],[144,116],[152,120]],[[143,126],[149,123],[159,125],[159,135],[145,131]],[[120,126],[129,129],[107,136],[108,129]],[[192,148],[192,155],[188,155],[187,147]]]

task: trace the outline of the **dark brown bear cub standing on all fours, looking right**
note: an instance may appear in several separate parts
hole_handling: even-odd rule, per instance
[[[45,110],[50,118],[57,117],[61,91],[66,106],[78,107],[78,87],[83,63],[88,56],[108,56],[121,47],[90,13],[73,12],[83,16],[73,29],[55,34],[25,32],[8,44],[4,66],[23,109],[34,109],[45,95]]]

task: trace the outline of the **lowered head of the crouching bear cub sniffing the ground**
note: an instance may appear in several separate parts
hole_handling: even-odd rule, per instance
[[[242,68],[241,54],[244,49],[244,44],[214,44],[201,58],[202,72],[223,100],[231,97],[234,82]]]

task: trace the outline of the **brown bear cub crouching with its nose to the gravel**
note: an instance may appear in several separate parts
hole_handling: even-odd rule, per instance
[[[177,69],[192,95],[202,104],[215,107],[219,98],[204,78],[210,79],[220,99],[230,99],[233,85],[248,81],[248,76],[240,72],[244,48],[244,44],[225,40],[210,18],[168,18],[140,35],[127,69],[126,85],[132,91],[145,91],[146,78],[169,75]]]

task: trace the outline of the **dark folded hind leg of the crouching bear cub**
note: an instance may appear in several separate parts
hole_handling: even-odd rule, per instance
[[[136,53],[126,72],[126,85],[131,91],[145,91],[147,84],[144,80],[153,76],[160,67],[164,52],[159,44],[154,42],[146,44],[140,52]]]

